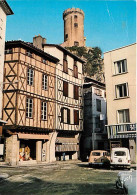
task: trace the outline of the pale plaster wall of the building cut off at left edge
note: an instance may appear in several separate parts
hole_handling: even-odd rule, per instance
[[[5,50],[6,14],[0,7],[0,119],[2,118],[2,82]]]

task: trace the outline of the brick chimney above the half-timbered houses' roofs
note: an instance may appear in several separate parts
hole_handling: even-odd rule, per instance
[[[43,50],[43,44],[46,44],[46,39],[41,35],[33,37],[33,45],[41,50]]]

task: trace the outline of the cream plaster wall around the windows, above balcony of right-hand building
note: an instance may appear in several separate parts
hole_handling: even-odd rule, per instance
[[[126,74],[114,76],[114,62],[127,59]],[[136,123],[136,44],[104,54],[108,125],[117,124],[117,110],[130,110],[130,122]],[[129,98],[115,99],[115,85],[128,82]]]

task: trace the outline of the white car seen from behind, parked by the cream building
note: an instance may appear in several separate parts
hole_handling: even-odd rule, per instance
[[[128,148],[112,148],[110,157],[111,167],[127,167],[130,168],[130,154]]]

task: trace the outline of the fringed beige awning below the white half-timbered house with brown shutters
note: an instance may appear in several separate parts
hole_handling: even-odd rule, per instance
[[[56,144],[78,144],[79,141],[76,138],[68,138],[68,137],[57,137]]]

